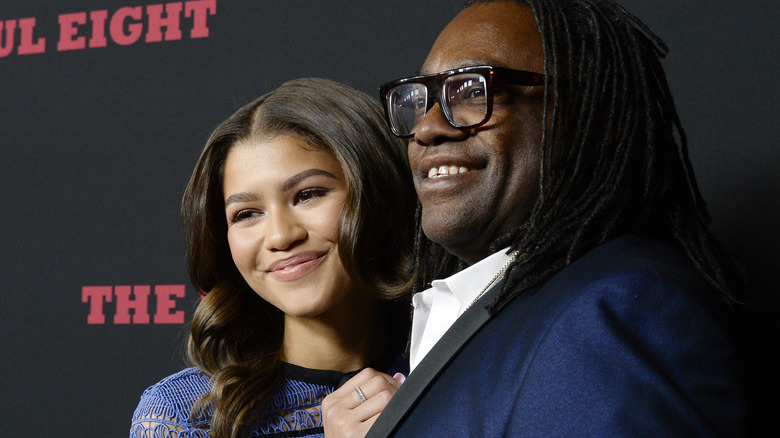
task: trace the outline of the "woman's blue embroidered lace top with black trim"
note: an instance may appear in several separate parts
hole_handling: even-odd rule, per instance
[[[390,368],[390,374],[397,371],[408,374],[405,361],[397,361]],[[263,414],[268,420],[257,424],[247,436],[323,438],[322,399],[355,373],[309,370],[290,364],[285,364],[284,373],[281,387],[266,402]],[[149,387],[133,413],[130,438],[211,437],[212,410],[190,418],[192,407],[210,389],[209,378],[197,368],[179,371]]]

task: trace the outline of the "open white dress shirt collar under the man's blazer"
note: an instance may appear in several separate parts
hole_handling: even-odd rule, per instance
[[[471,305],[488,281],[509,260],[507,250],[486,257],[443,280],[433,280],[431,288],[412,297],[412,341],[410,372],[422,361],[456,319]]]

